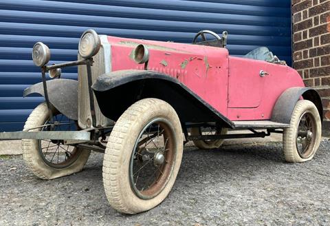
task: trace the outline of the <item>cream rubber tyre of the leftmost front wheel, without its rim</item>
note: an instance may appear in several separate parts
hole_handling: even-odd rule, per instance
[[[53,113],[56,112],[57,110],[54,109]],[[45,122],[49,120],[49,117],[47,105],[41,103],[32,111],[28,120],[25,122],[23,130],[44,125]],[[41,131],[41,128],[30,131]],[[50,167],[43,161],[39,152],[39,140],[22,140],[22,150],[25,164],[28,165],[34,175],[45,180],[80,172],[83,170],[83,167],[89,158],[89,154],[91,153],[89,150],[81,150],[81,153],[74,163],[62,169],[56,169]]]

